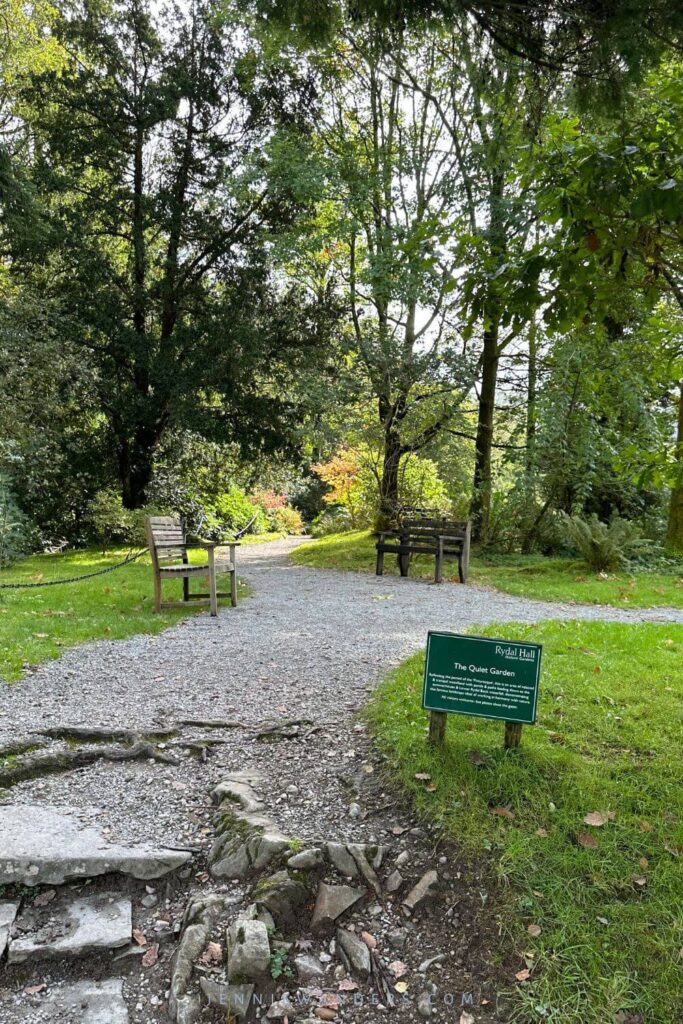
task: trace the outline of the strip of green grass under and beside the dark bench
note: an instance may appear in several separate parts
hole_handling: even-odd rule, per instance
[[[292,553],[298,565],[313,568],[375,571],[375,539],[368,530],[332,534]],[[384,571],[398,574],[396,559],[387,555]],[[434,559],[418,555],[411,574],[433,580]],[[458,565],[445,563],[446,579],[457,581]],[[470,580],[508,594],[548,601],[612,604],[624,608],[683,607],[683,563],[680,572],[610,572],[596,574],[583,562],[543,555],[474,555]]]

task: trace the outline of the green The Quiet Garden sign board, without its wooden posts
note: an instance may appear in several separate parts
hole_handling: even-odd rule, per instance
[[[536,722],[542,646],[459,633],[429,633],[422,707]]]

